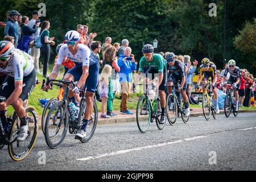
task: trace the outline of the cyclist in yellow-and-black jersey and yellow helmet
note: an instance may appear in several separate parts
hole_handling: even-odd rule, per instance
[[[205,85],[207,85],[207,81],[209,78],[211,78],[212,85],[213,85],[213,96],[215,100],[215,107],[216,107],[216,113],[220,113],[220,109],[218,108],[218,94],[217,94],[217,88],[216,88],[216,83],[217,83],[217,70],[216,70],[216,65],[212,63],[207,57],[205,57],[202,62],[202,64],[199,67],[199,74],[198,74],[198,79],[197,79],[197,85],[196,85],[196,90],[199,90],[199,85],[201,82],[201,77],[203,77],[203,85],[202,89],[203,92],[205,92]]]

